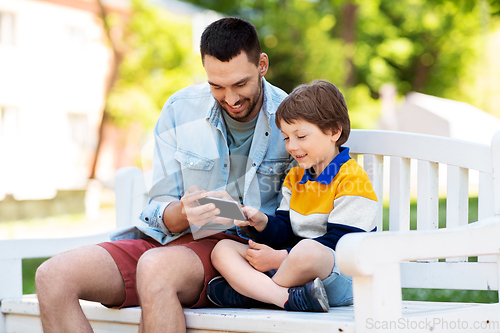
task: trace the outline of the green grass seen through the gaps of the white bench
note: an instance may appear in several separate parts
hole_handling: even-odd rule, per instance
[[[469,199],[469,221],[477,220],[477,198]],[[384,230],[388,229],[389,209],[384,207]],[[439,201],[439,225],[445,226],[446,200]],[[417,226],[417,205],[412,202],[410,206],[410,229]],[[24,259],[23,260],[23,293],[35,292],[35,271],[47,258]],[[469,258],[475,261],[475,258]],[[457,277],[460,278],[460,277]],[[409,289],[403,288],[403,299],[413,301],[439,301],[439,302],[473,302],[473,303],[495,303],[498,302],[498,292],[488,290],[448,290],[448,289]]]

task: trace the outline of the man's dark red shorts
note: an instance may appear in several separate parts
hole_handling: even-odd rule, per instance
[[[137,262],[144,252],[157,247],[182,245],[190,248],[200,258],[205,270],[205,281],[200,298],[190,308],[201,308],[211,306],[212,303],[207,298],[207,285],[210,280],[220,275],[212,266],[210,255],[215,245],[222,239],[233,239],[240,243],[247,243],[246,239],[238,236],[228,235],[226,233],[217,233],[202,239],[193,240],[192,234],[186,234],[166,245],[161,245],[152,238],[143,239],[120,239],[113,242],[104,242],[97,245],[102,246],[111,254],[125,282],[125,301],[114,308],[124,308],[129,306],[138,306],[139,297],[136,289],[136,269]],[[105,304],[103,304],[105,305]],[[107,305],[105,305],[107,306]]]

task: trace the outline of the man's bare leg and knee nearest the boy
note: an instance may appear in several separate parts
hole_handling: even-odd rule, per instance
[[[137,292],[142,308],[140,332],[185,332],[182,306],[198,300],[204,278],[200,258],[187,247],[146,252],[137,265]]]

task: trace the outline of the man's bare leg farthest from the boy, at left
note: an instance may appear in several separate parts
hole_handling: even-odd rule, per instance
[[[125,284],[111,255],[99,245],[61,253],[36,272],[40,317],[45,333],[92,332],[79,299],[122,304]]]

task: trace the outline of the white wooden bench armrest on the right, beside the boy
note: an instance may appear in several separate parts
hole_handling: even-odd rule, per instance
[[[498,254],[498,235],[500,215],[447,229],[351,233],[337,244],[336,260],[344,274],[368,276],[377,265]]]

